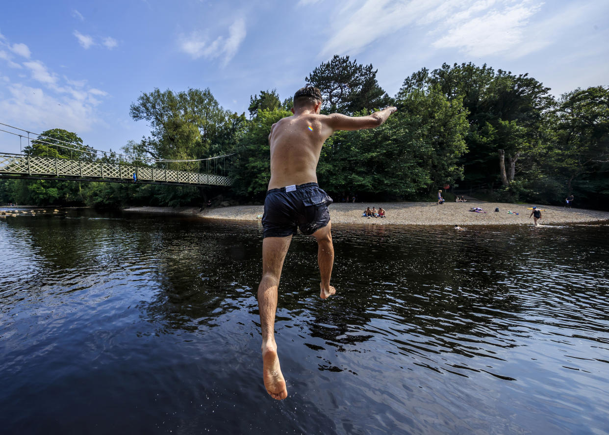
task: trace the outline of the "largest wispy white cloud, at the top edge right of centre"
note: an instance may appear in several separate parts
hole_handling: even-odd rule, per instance
[[[415,27],[421,37],[408,42],[417,46],[471,56],[505,54],[522,44],[535,51],[551,42],[526,38],[541,5],[537,0],[351,0],[336,13],[320,57],[357,54],[371,44],[404,38]]]

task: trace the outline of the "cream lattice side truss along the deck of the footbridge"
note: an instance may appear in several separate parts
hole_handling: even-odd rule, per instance
[[[133,182],[172,185],[230,186],[226,175],[178,171],[125,163],[0,153],[0,178],[50,179],[97,182]]]

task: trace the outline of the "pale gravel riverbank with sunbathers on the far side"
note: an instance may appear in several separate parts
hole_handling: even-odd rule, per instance
[[[362,213],[367,203],[334,203],[330,206],[330,216],[335,224],[364,224],[364,225],[513,225],[531,224],[529,218],[532,205],[485,202],[471,200],[468,202],[445,202],[437,205],[435,202],[377,202],[370,207],[382,207],[387,218],[364,218]],[[488,213],[474,213],[472,207],[481,207]],[[495,212],[499,208],[499,212]],[[541,224],[564,224],[609,221],[609,212],[598,210],[583,210],[552,205],[540,206]],[[209,208],[199,211],[194,207],[130,207],[125,211],[143,213],[180,213],[191,214],[208,219],[230,219],[238,221],[259,220],[264,207],[262,205],[236,205],[233,207]],[[513,213],[508,213],[512,211]],[[514,214],[518,213],[518,214]]]

